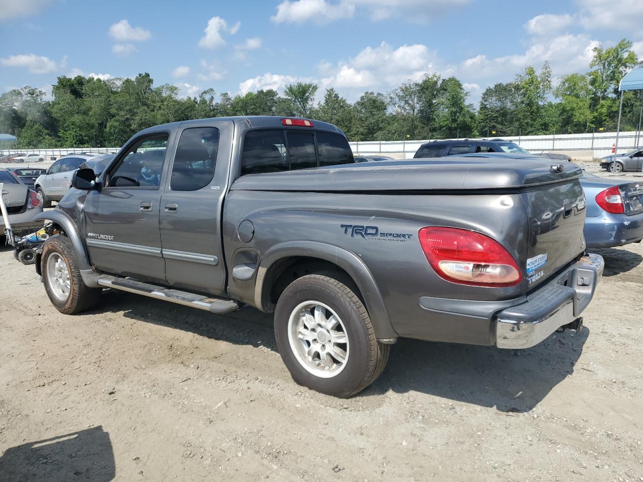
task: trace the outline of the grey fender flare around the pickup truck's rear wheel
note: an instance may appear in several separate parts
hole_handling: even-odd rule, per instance
[[[382,294],[367,265],[355,253],[331,244],[291,241],[269,249],[262,256],[257,269],[255,306],[267,312],[273,311],[276,298],[287,284],[311,272],[307,272],[306,268],[320,272],[333,267],[339,271],[340,277],[343,274],[359,290],[358,296],[366,305],[377,339],[393,343],[397,339],[397,333],[393,329]],[[289,268],[293,270],[289,271]],[[300,272],[296,273],[295,278],[284,279],[284,274],[292,274],[298,268]]]

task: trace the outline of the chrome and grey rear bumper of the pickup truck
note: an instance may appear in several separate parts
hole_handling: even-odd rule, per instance
[[[525,303],[499,312],[495,321],[496,346],[529,348],[557,328],[572,323],[590,303],[603,267],[601,256],[588,254],[527,296]]]

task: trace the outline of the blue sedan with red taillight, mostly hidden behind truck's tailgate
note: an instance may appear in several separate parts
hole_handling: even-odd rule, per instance
[[[451,156],[449,156],[451,157]],[[458,157],[527,161],[538,159],[521,154],[464,154]],[[551,163],[544,161],[545,167]],[[583,171],[581,186],[587,200],[583,229],[587,247],[615,247],[643,239],[643,183],[612,181]],[[552,215],[556,215],[552,211]]]

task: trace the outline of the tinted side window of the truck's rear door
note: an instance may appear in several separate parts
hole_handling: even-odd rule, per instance
[[[217,150],[219,150],[219,129],[214,127],[185,129],[176,147],[170,189],[196,191],[210,184],[217,163]]]

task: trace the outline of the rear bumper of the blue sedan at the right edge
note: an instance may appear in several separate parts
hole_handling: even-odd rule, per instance
[[[633,216],[610,214],[585,218],[583,229],[588,248],[615,247],[643,238],[643,213]]]

